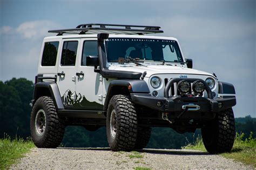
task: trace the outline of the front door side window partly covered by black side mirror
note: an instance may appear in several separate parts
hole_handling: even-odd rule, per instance
[[[98,43],[96,40],[84,41],[81,65],[86,65],[87,56],[98,56]]]

